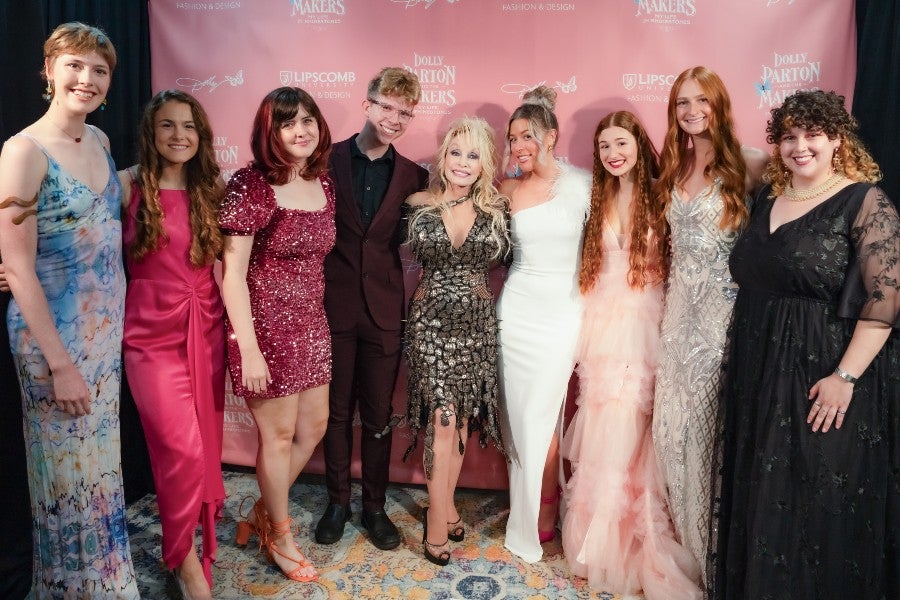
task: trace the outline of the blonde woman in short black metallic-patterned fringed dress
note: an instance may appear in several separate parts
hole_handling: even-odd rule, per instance
[[[425,429],[429,508],[423,552],[445,565],[448,538],[462,541],[465,535],[453,495],[466,440],[478,430],[482,446],[491,439],[502,450],[497,315],[488,269],[507,253],[509,238],[506,203],[492,183],[490,126],[482,119],[456,121],[436,162],[429,189],[407,200],[409,246],[422,265],[406,326],[407,416],[413,436]]]

